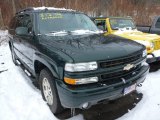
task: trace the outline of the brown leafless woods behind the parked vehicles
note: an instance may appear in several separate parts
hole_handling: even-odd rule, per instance
[[[131,16],[139,25],[150,25],[160,15],[160,0],[0,0],[0,28],[27,7],[60,7],[87,13],[89,16]]]

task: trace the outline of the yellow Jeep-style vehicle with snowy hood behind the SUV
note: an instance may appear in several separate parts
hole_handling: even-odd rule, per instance
[[[160,60],[160,36],[138,31],[131,17],[96,17],[92,20],[105,35],[113,34],[145,45],[148,63]]]

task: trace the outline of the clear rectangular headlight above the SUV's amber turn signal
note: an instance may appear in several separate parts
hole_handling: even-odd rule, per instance
[[[68,72],[82,72],[82,71],[91,71],[98,68],[97,62],[88,62],[88,63],[66,63],[65,71]]]

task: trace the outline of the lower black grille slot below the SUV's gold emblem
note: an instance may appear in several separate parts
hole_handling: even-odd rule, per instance
[[[105,82],[106,85],[116,84],[122,82],[122,78],[131,77],[132,75],[137,74],[140,68],[141,65],[137,65],[129,71],[119,71],[110,74],[103,74],[100,75],[100,81]]]

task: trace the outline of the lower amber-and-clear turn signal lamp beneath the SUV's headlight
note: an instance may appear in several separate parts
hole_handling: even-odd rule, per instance
[[[98,77],[89,77],[89,78],[81,78],[81,79],[72,79],[72,78],[64,77],[64,81],[70,85],[82,85],[82,84],[98,82]]]

